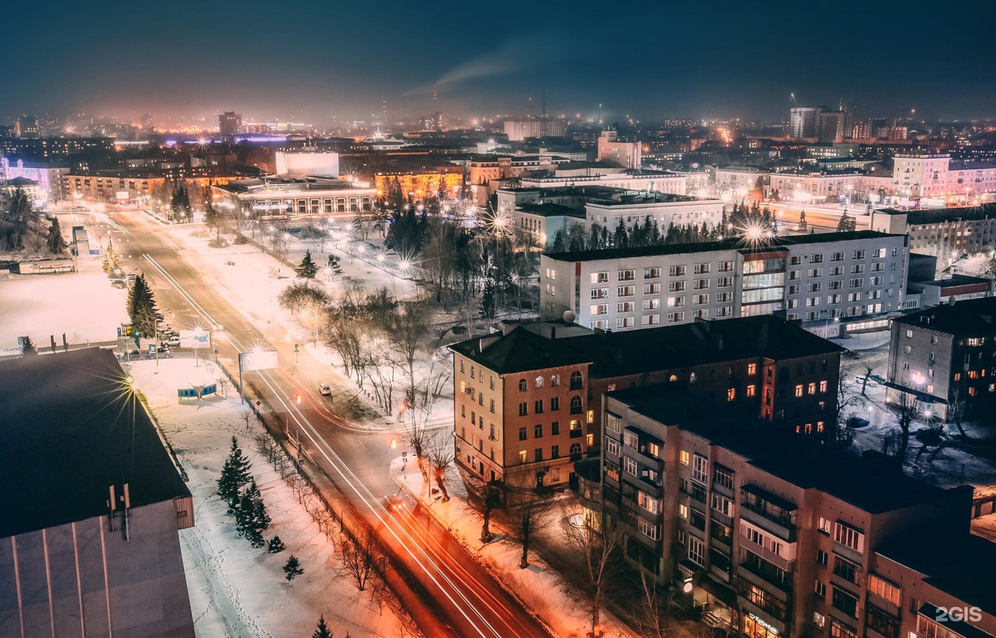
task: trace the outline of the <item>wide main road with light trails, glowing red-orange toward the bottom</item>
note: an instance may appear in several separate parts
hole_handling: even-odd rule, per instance
[[[222,359],[266,343],[257,330],[191,264],[180,256],[165,227],[141,212],[111,211],[113,238],[126,272],[144,272],[160,307],[172,309],[173,325],[215,327]],[[274,328],[273,342],[285,337]],[[236,375],[237,370],[233,371]],[[388,510],[385,498],[398,491],[388,465],[398,433],[367,433],[344,422],[318,394],[328,367],[302,352],[292,369],[246,374],[247,390],[283,413],[291,434],[375,530],[390,558],[388,575],[402,604],[426,636],[459,638],[549,637],[546,629],[505,591],[451,536],[418,522],[410,507]],[[294,397],[295,399],[292,399]],[[300,397],[298,401],[297,398]]]

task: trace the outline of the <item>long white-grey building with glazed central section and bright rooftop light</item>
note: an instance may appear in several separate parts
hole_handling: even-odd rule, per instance
[[[541,317],[634,330],[785,313],[824,336],[887,328],[906,284],[906,236],[871,230],[540,257]]]

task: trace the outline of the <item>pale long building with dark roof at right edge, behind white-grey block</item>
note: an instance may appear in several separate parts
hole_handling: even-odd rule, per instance
[[[871,211],[871,230],[909,235],[912,252],[937,257],[941,267],[963,255],[996,247],[996,203],[904,210]]]

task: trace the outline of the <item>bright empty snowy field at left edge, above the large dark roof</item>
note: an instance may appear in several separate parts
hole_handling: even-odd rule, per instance
[[[51,275],[0,273],[0,356],[17,353],[17,338],[27,335],[41,349],[49,335],[62,346],[114,341],[127,321],[127,291],[115,288],[101,269],[101,260],[85,256],[80,272]]]

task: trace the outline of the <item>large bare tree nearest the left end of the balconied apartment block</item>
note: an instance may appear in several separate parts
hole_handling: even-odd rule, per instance
[[[575,582],[582,585],[590,601],[591,630],[589,636],[598,638],[605,632],[599,631],[602,607],[606,594],[606,583],[612,578],[621,563],[619,548],[622,545],[622,527],[614,525],[602,534],[582,523],[575,526],[568,522],[565,537],[571,548],[572,570],[576,572]]]

